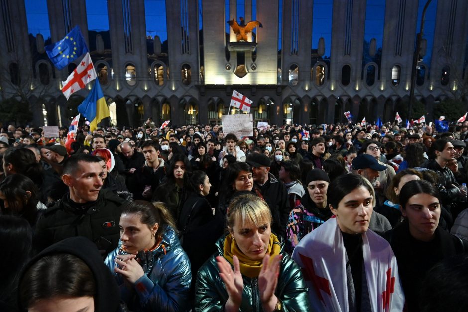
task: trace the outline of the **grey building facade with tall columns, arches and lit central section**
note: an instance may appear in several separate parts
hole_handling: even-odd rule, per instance
[[[108,124],[138,125],[147,117],[175,125],[220,122],[234,89],[253,100],[255,120],[271,124],[343,122],[345,111],[355,121],[392,121],[395,111],[402,115],[407,109],[426,3],[244,0],[240,11],[236,0],[159,1],[156,9],[167,27],[161,42],[148,36],[144,0],[108,0],[100,18],[109,30],[103,32],[90,30],[89,1],[44,1],[46,39],[28,29],[31,8],[25,0],[0,0],[0,98],[27,99],[34,126],[68,126],[91,89],[67,101],[61,81],[76,65],[57,70],[44,52],[44,45],[76,25],[110,105]],[[415,86],[430,120],[434,105],[464,88],[468,78],[468,3],[432,2],[423,37],[430,38],[423,41]],[[262,23],[249,34],[250,42],[236,42],[226,26],[240,16]]]

